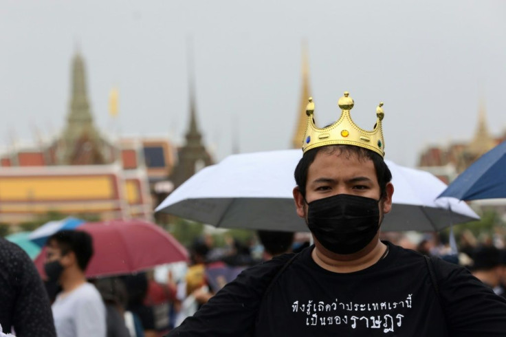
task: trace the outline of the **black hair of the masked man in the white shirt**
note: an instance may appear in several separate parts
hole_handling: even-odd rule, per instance
[[[61,230],[47,239],[46,246],[55,242],[61,250],[61,254],[74,252],[77,264],[83,272],[86,270],[89,260],[94,254],[93,239],[87,232],[81,230]]]

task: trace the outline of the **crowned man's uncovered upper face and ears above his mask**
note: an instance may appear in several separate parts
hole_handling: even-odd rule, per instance
[[[379,200],[381,191],[372,160],[359,160],[353,153],[320,151],[307,171],[308,203],[338,194],[358,195]],[[386,186],[386,197],[380,201],[380,215],[390,212],[393,185]],[[307,219],[307,204],[298,188],[294,188],[297,215]]]

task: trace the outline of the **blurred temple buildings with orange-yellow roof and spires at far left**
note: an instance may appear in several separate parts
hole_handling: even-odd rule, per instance
[[[12,146],[0,154],[0,223],[34,221],[46,213],[100,219],[153,219],[175,186],[212,160],[201,142],[193,95],[186,144],[166,137],[111,140],[94,124],[85,61],[72,59],[65,127],[53,140]]]

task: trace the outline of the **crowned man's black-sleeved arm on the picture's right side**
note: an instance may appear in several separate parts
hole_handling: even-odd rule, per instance
[[[433,259],[450,336],[505,336],[506,301],[470,272]]]

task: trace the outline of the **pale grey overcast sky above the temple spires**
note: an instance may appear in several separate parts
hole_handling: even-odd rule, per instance
[[[506,130],[506,1],[39,1],[0,8],[0,144],[61,131],[76,48],[107,133],[109,90],[125,135],[181,139],[188,125],[188,36],[199,127],[217,160],[286,149],[309,45],[315,116],[335,121],[350,91],[364,129],[384,101],[386,158],[415,166],[428,144],[470,140],[480,100]]]

